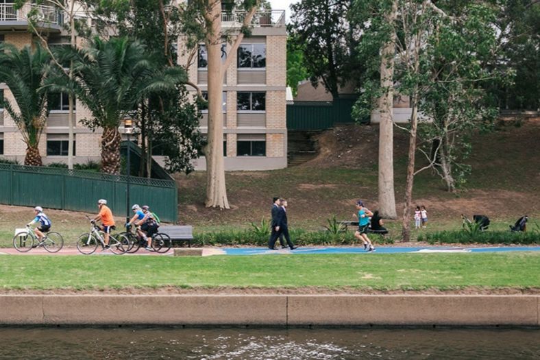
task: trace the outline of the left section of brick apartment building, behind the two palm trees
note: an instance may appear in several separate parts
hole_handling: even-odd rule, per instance
[[[42,22],[38,23],[40,32],[47,38],[49,46],[69,44],[69,37],[62,31],[62,13],[48,5],[25,5],[15,10],[14,1],[0,0],[0,41],[11,43],[19,49],[30,45],[36,36],[29,32],[27,14],[32,8],[37,8]],[[0,96],[5,97],[16,107],[16,102],[5,84],[0,84]],[[66,94],[53,94],[49,99],[53,104],[47,126],[43,132],[39,150],[44,165],[49,163],[66,163],[68,154],[68,97]],[[84,127],[80,120],[91,116],[90,111],[82,103],[75,101],[74,133],[74,163],[86,163],[88,160],[99,160],[99,132]],[[23,136],[16,127],[7,111],[0,109],[0,156],[23,163],[26,145]]]

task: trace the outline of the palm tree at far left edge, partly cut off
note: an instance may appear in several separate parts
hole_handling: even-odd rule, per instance
[[[23,134],[25,165],[42,165],[38,144],[49,109],[47,92],[38,89],[46,77],[50,61],[49,53],[38,44],[34,50],[29,46],[19,50],[10,44],[0,45],[0,82],[10,88],[16,104],[0,100]]]

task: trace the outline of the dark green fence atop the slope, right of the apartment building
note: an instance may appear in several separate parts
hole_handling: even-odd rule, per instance
[[[356,99],[334,101],[294,101],[287,104],[288,130],[323,130],[333,128],[336,123],[355,123],[352,107]],[[369,122],[362,119],[360,122]]]

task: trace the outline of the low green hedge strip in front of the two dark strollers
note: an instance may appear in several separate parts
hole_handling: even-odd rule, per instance
[[[491,243],[491,244],[540,244],[540,232],[486,231],[471,234],[466,231],[436,231],[421,234],[418,241],[428,243]]]

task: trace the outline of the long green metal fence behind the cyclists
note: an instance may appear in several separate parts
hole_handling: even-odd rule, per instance
[[[106,199],[114,215],[126,215],[127,176],[0,164],[0,184],[0,204],[97,213],[97,200]],[[177,221],[173,180],[130,176],[130,202],[149,205],[163,221]]]

